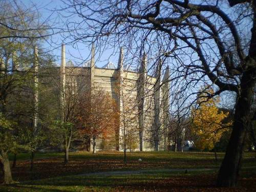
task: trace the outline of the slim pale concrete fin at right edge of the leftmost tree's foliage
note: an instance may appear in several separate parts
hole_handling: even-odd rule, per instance
[[[34,133],[38,129],[38,52],[37,47],[34,48]]]

